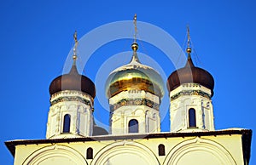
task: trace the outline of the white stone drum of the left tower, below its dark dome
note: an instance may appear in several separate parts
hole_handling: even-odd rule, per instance
[[[83,92],[65,90],[50,98],[47,139],[88,137],[93,128],[93,98]],[[64,131],[65,116],[69,116],[69,131]]]

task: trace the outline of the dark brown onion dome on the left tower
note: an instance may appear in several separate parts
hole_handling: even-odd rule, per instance
[[[56,77],[49,85],[49,94],[51,95],[63,90],[82,91],[90,94],[93,98],[96,96],[95,84],[90,78],[79,74],[75,62],[73,62],[69,73]]]

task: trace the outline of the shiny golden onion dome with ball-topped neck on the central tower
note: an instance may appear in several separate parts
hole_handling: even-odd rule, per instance
[[[140,63],[137,57],[137,43],[132,43],[131,48],[133,49],[131,62],[109,74],[105,86],[108,99],[128,90],[144,90],[161,98],[164,95],[162,77],[152,67]]]

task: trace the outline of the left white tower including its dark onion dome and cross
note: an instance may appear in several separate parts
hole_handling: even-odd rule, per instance
[[[73,65],[69,73],[56,77],[49,85],[50,107],[47,139],[88,137],[93,132],[94,83],[80,75],[77,66],[78,40],[74,34]]]

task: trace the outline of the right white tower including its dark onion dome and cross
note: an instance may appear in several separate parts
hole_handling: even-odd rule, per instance
[[[188,60],[172,72],[167,86],[170,96],[171,132],[213,131],[212,75],[193,64],[188,29]]]

